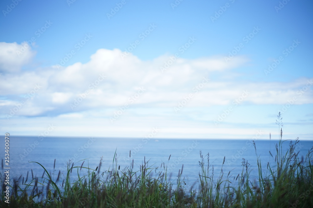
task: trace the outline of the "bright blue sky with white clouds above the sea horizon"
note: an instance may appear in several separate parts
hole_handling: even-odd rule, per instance
[[[1,1],[0,133],[312,140],[312,9]]]

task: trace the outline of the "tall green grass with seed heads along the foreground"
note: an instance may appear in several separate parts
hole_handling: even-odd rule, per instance
[[[121,169],[115,152],[112,168],[104,172],[100,171],[102,159],[95,169],[85,166],[84,161],[79,166],[69,161],[65,173],[59,171],[53,176],[36,162],[44,175],[34,177],[31,172],[30,180],[27,174],[10,181],[9,204],[4,202],[1,175],[0,207],[313,207],[313,147],[305,158],[299,158],[295,152],[298,138],[284,152],[282,135],[280,129],[275,153],[269,152],[275,161],[272,165],[268,162],[262,167],[254,143],[259,172],[256,179],[249,176],[250,164],[244,159],[240,174],[223,172],[225,157],[216,174],[209,153],[203,156],[200,151],[199,186],[188,189],[182,178],[183,166],[176,180],[168,175],[171,156],[160,167],[150,166],[144,158],[140,170],[134,171],[133,160]]]

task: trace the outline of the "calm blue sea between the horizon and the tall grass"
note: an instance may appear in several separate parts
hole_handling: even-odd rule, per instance
[[[269,151],[275,157],[275,143],[278,140],[258,140],[255,141],[257,154],[260,157],[264,167],[271,160]],[[293,141],[294,143],[294,141]],[[286,152],[290,142],[283,143],[283,151]],[[4,151],[4,141],[3,145]],[[297,144],[296,151],[299,156],[305,156],[313,146],[313,141],[300,141]],[[70,137],[22,137],[10,136],[10,177],[26,177],[27,172],[33,171],[33,175],[42,176],[43,168],[37,163],[41,163],[51,174],[58,174],[59,170],[66,170],[66,163],[72,160],[76,165],[95,169],[99,166],[100,158],[103,158],[100,172],[112,169],[115,151],[118,157],[117,166],[121,169],[130,165],[134,160],[134,170],[139,170],[144,158],[149,161],[152,167],[159,167],[161,163],[167,164],[168,172],[172,173],[172,179],[176,179],[179,169],[183,165],[182,177],[192,185],[197,181],[200,154],[202,151],[205,162],[209,153],[210,169],[214,167],[215,175],[219,175],[223,165],[224,174],[232,170],[233,177],[237,176],[242,170],[242,158],[250,164],[251,175],[257,176],[257,156],[252,140],[203,140],[203,139],[133,139],[133,138],[70,138]],[[2,151],[2,152],[3,152]],[[130,157],[131,151],[131,157]],[[4,159],[4,154],[3,158]],[[169,156],[170,160],[169,159]],[[54,159],[56,159],[55,168]],[[3,161],[4,162],[4,161]],[[114,164],[115,166],[115,164]],[[265,170],[265,168],[264,168]],[[2,173],[4,169],[2,169]],[[56,177],[54,175],[54,177]]]

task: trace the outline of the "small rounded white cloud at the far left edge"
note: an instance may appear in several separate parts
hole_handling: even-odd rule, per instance
[[[0,72],[18,72],[34,55],[27,42],[0,42]]]

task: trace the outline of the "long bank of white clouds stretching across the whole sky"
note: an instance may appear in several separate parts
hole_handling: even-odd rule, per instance
[[[15,54],[14,51],[20,46],[16,43],[0,44],[0,48],[7,48],[0,56],[2,70],[8,71],[10,67],[19,70],[33,56],[29,49],[16,63],[16,55],[5,60],[8,54]],[[288,85],[279,82],[243,83],[236,79],[210,79],[213,71],[223,74],[247,65],[249,60],[244,56],[234,57],[227,63],[222,57],[194,60],[177,58],[169,62],[169,56],[142,61],[132,54],[122,60],[121,53],[118,49],[99,49],[87,63],[78,62],[59,70],[51,66],[49,69],[21,72],[18,75],[4,74],[0,77],[0,93],[6,99],[0,101],[0,111],[8,114],[18,103],[25,101],[15,115],[80,118],[79,112],[117,108],[125,104],[172,108],[189,94],[193,94],[189,107],[208,107],[228,105],[244,90],[249,92],[244,102],[253,104],[285,104],[293,96],[297,96],[296,104],[313,103],[312,90],[302,89],[310,83],[310,79],[294,80]],[[162,70],[166,63],[171,64]],[[36,88],[36,85],[40,88]],[[143,93],[137,97],[141,88],[144,89]],[[303,91],[301,95],[300,89]]]

